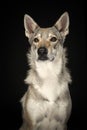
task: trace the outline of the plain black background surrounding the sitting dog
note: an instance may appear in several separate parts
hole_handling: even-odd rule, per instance
[[[2,129],[18,130],[22,123],[20,99],[27,90],[24,84],[28,69],[26,53],[29,48],[24,33],[24,14],[29,14],[41,26],[52,26],[62,13],[70,16],[70,33],[66,38],[68,67],[72,75],[70,93],[72,113],[69,130],[86,126],[86,36],[84,2],[44,0],[0,3],[0,119]]]

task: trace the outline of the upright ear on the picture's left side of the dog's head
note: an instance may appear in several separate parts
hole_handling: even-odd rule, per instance
[[[38,27],[37,23],[27,14],[24,15],[24,28],[26,37],[30,38],[31,34]]]

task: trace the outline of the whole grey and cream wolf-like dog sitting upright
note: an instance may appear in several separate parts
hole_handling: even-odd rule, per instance
[[[21,99],[23,124],[20,130],[67,130],[72,101],[69,91],[71,75],[63,46],[69,33],[69,14],[41,28],[28,14],[24,15],[25,35],[31,45],[27,54],[29,85]]]

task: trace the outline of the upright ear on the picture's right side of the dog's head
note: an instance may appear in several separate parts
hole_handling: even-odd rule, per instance
[[[67,12],[63,13],[54,25],[59,32],[65,37],[69,33],[69,15]]]

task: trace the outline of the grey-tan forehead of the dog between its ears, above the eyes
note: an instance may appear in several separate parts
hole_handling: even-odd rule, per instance
[[[59,35],[59,31],[54,27],[39,28],[35,32],[35,36],[38,36],[38,37],[51,37],[53,35],[56,35],[56,36]]]

